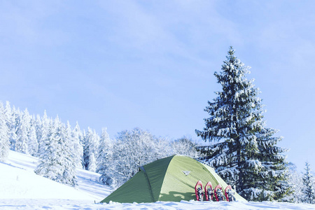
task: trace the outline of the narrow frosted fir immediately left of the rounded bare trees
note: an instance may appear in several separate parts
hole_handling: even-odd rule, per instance
[[[109,138],[109,134],[106,128],[102,129],[102,136],[99,140],[99,148],[97,151],[97,173],[101,174],[99,177],[99,182],[111,185],[111,175],[110,168],[112,164],[113,157],[113,144]]]

